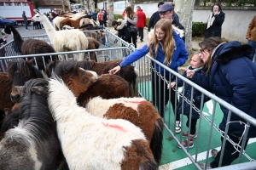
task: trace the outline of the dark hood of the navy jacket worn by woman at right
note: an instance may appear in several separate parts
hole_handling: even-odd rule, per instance
[[[212,53],[212,59],[219,64],[227,64],[232,59],[247,57],[252,59],[253,47],[245,44],[241,45],[240,42],[221,43]]]

